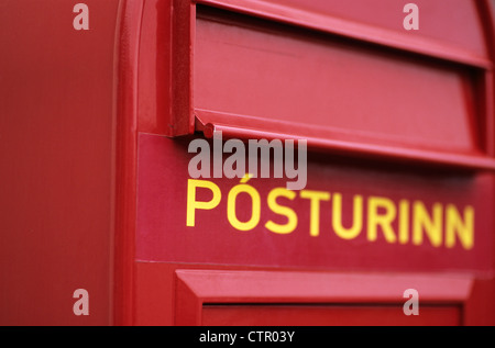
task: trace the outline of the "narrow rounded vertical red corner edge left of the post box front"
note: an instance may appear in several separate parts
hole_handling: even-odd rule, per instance
[[[114,324],[132,325],[134,291],[134,226],[138,161],[139,48],[143,3],[121,1],[119,4],[114,46],[113,194],[112,227],[114,236]]]

